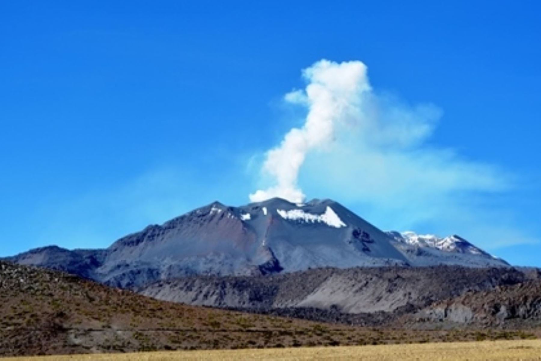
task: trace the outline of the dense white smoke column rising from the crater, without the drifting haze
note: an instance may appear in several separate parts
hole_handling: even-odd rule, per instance
[[[360,61],[338,64],[321,60],[303,71],[308,83],[305,91],[292,91],[285,100],[308,108],[306,122],[300,129],[291,129],[280,146],[269,150],[263,171],[273,176],[276,184],[250,194],[251,201],[273,197],[304,201],[297,185],[299,169],[308,152],[333,140],[337,122],[361,116],[362,96],[371,90],[366,70]]]

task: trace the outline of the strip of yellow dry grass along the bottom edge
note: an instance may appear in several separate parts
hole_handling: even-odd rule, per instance
[[[210,351],[140,352],[102,355],[38,356],[2,361],[173,361],[173,360],[541,360],[541,340],[505,340],[375,346],[299,347]]]

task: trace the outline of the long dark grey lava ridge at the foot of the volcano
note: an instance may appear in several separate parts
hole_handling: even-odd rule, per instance
[[[158,281],[138,292],[192,305],[258,312],[317,309],[347,314],[412,312],[467,291],[523,282],[512,268],[318,268],[268,277],[186,277]]]

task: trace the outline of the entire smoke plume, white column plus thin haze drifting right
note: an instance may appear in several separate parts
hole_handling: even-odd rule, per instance
[[[302,76],[306,88],[285,100],[306,108],[304,124],[265,154],[261,179],[273,183],[250,200],[302,202],[301,180],[307,193],[359,207],[383,228],[471,235],[487,248],[533,241],[498,204],[514,175],[428,142],[437,107],[375,92],[360,61],[321,60]]]

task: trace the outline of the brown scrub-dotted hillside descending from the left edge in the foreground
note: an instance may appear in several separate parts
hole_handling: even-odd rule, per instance
[[[0,262],[0,303],[0,356],[456,341],[478,334],[374,330],[188,306],[8,262]]]

